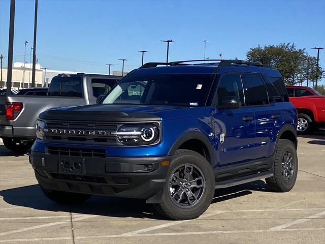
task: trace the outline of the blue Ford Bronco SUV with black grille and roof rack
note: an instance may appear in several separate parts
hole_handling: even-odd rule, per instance
[[[270,190],[290,191],[296,128],[275,69],[243,60],[148,63],[100,104],[41,113],[30,163],[57,203],[141,198],[186,220],[203,214],[215,189],[265,178]]]

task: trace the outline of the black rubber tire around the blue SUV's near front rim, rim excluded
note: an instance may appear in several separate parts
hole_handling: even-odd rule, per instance
[[[174,194],[174,192],[171,192],[171,190],[174,189],[170,188],[170,179],[174,175],[175,173],[174,171],[177,169],[182,169],[182,167],[184,167],[183,172],[185,172],[186,171],[185,165],[187,165],[187,167],[192,167],[191,170],[192,173],[190,173],[189,177],[197,177],[195,176],[196,172],[200,172],[204,176],[202,177],[202,179],[204,180],[201,181],[201,183],[204,182],[204,184],[202,183],[204,187],[199,186],[200,188],[196,188],[195,186],[191,186],[189,183],[192,182],[192,185],[194,185],[193,180],[190,180],[190,178],[188,178],[187,185],[188,188],[190,189],[182,188],[184,190],[183,193],[185,195],[183,196],[182,193],[180,198],[187,198],[188,203],[190,202],[190,198],[191,198],[188,197],[189,196],[188,194],[192,194],[194,193],[194,191],[196,191],[197,193],[198,192],[201,193],[201,194],[199,193],[200,194],[199,198],[197,196],[196,198],[194,198],[196,200],[193,202],[196,203],[194,203],[191,206],[188,206],[187,208],[184,208],[184,206],[181,207],[177,205],[177,203],[175,203],[172,200],[172,194]],[[174,177],[175,176],[173,176],[173,178]],[[185,180],[185,176],[184,176],[184,180]],[[196,185],[198,185],[198,181],[196,181]],[[181,189],[180,186],[177,187]],[[183,187],[185,187],[185,185],[183,185]],[[203,190],[200,190],[201,188]],[[186,191],[188,190],[190,193],[188,192],[186,193]],[[153,206],[157,210],[157,212],[159,212],[159,214],[172,220],[196,219],[200,215],[202,215],[211,204],[214,195],[214,190],[215,190],[215,177],[210,163],[202,155],[194,151],[179,149],[176,151],[175,156],[171,162],[169,173],[166,178],[166,185],[165,185],[163,197],[161,199],[161,203],[153,204]],[[175,195],[176,194],[174,194],[174,196]]]

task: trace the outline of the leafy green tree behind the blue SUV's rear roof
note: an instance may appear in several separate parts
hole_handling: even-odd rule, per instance
[[[295,44],[281,43],[277,46],[251,48],[246,59],[250,62],[262,62],[279,70],[286,84],[294,85],[319,79],[321,71],[317,71],[317,58],[309,56],[305,49],[297,49]]]

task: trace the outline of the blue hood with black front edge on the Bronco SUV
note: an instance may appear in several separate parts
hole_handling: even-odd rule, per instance
[[[94,104],[49,109],[42,119],[74,121],[159,121],[203,116],[205,107],[170,105]]]

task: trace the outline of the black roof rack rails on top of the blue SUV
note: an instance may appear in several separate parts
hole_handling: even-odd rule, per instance
[[[211,63],[210,61],[213,61],[213,63]],[[194,60],[175,61],[169,63],[154,63],[154,62],[146,63],[143,66],[141,66],[139,69],[153,68],[153,67],[157,67],[158,65],[167,65],[167,66],[188,65],[185,63],[191,63],[191,62],[208,62],[208,63],[193,64],[193,65],[218,65],[218,67],[231,67],[232,65],[246,65],[246,66],[270,68],[267,65],[263,65],[261,62],[247,62],[245,60],[240,60],[240,59],[194,59]]]

